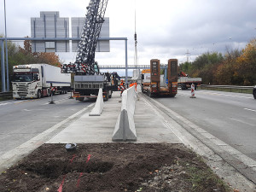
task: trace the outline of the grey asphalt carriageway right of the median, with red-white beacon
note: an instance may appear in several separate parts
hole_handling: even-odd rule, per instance
[[[256,100],[253,95],[196,90],[178,90],[174,98],[155,98],[167,108],[256,160]]]

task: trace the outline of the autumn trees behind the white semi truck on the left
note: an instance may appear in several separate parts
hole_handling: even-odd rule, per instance
[[[3,36],[1,38],[3,38]],[[23,44],[24,44],[24,48],[21,48],[19,45],[11,41],[8,41],[8,44],[7,44],[10,88],[11,88],[11,81],[12,81],[12,75],[13,75],[12,73],[13,66],[33,64],[33,63],[47,63],[49,65],[61,67],[60,58],[55,53],[32,52],[32,44],[31,44],[31,41],[29,40],[25,40]],[[1,48],[0,48],[0,51],[1,51]],[[5,43],[4,43],[4,52],[5,52]],[[4,57],[5,56],[6,55],[4,53]],[[2,74],[1,64],[2,63],[0,60],[0,73]],[[5,67],[6,67],[6,63],[5,63]],[[2,79],[0,79],[0,87],[2,87]]]

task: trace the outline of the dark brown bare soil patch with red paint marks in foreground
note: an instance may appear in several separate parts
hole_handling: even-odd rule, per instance
[[[182,144],[44,144],[0,175],[0,191],[229,191]]]

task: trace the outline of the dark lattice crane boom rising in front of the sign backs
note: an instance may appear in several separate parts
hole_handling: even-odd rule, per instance
[[[79,75],[99,73],[99,68],[95,61],[95,51],[107,5],[108,0],[90,0],[76,61],[70,64],[63,64],[61,73],[76,73]]]

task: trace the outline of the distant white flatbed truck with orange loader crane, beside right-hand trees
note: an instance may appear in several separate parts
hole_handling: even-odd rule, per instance
[[[189,78],[188,74],[180,72],[178,73],[177,85],[182,90],[187,90],[191,87],[191,84],[195,84],[195,90],[201,86],[201,78]]]

